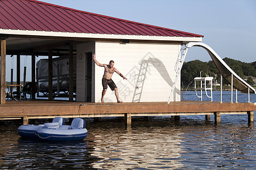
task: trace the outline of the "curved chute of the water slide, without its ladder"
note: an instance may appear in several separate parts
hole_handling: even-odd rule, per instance
[[[243,93],[248,93],[248,91],[250,91],[256,94],[255,89],[251,87],[250,84],[246,83],[245,80],[243,80],[240,76],[234,73],[234,71],[230,69],[230,67],[221,59],[221,57],[218,56],[218,54],[214,52],[212,48],[210,48],[210,46],[204,44],[203,42],[189,42],[187,44],[187,48],[190,48],[192,46],[200,46],[205,50],[207,50],[213,62],[215,63],[218,71],[220,71],[223,78],[230,84],[232,83],[232,75],[233,75],[233,86],[237,90]]]

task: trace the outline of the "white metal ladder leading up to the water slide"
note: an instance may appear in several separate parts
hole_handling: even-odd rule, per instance
[[[181,50],[183,50],[183,54],[182,54],[182,57],[180,59]],[[171,90],[171,94],[170,94],[169,99],[168,99],[168,104],[170,103],[172,97],[174,96],[174,90],[175,90],[175,87],[176,87],[176,84],[177,84],[177,80],[180,77],[181,68],[183,66],[183,63],[184,63],[185,57],[187,55],[187,52],[188,52],[188,46],[185,46],[184,49],[180,49],[179,56],[177,57],[177,61],[176,61],[175,68],[174,68],[175,72],[176,72],[176,76],[175,76],[174,84],[172,85],[172,90]]]

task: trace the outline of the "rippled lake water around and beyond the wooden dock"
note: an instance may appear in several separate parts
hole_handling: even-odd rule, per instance
[[[220,100],[217,91],[213,100]],[[216,97],[217,96],[217,97]],[[185,100],[199,100],[187,91]],[[224,92],[223,101],[230,101]],[[238,102],[247,102],[238,94]],[[208,100],[204,96],[203,100]],[[235,96],[233,101],[236,101]],[[250,95],[256,102],[256,95]],[[43,124],[51,120],[37,120]],[[68,124],[68,119],[65,120]],[[214,117],[181,116],[86,118],[88,137],[80,142],[49,143],[22,139],[16,133],[21,121],[5,121],[0,133],[2,169],[255,169],[256,130],[246,114]]]

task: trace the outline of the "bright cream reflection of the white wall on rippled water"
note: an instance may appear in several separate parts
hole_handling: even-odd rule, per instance
[[[95,135],[94,168],[181,168],[180,131],[166,127],[110,129]]]

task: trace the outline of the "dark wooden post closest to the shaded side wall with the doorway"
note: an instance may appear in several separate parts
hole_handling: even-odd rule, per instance
[[[68,58],[68,66],[69,66],[69,86],[68,86],[68,97],[69,101],[73,101],[73,45],[71,42],[69,43],[69,58]]]

